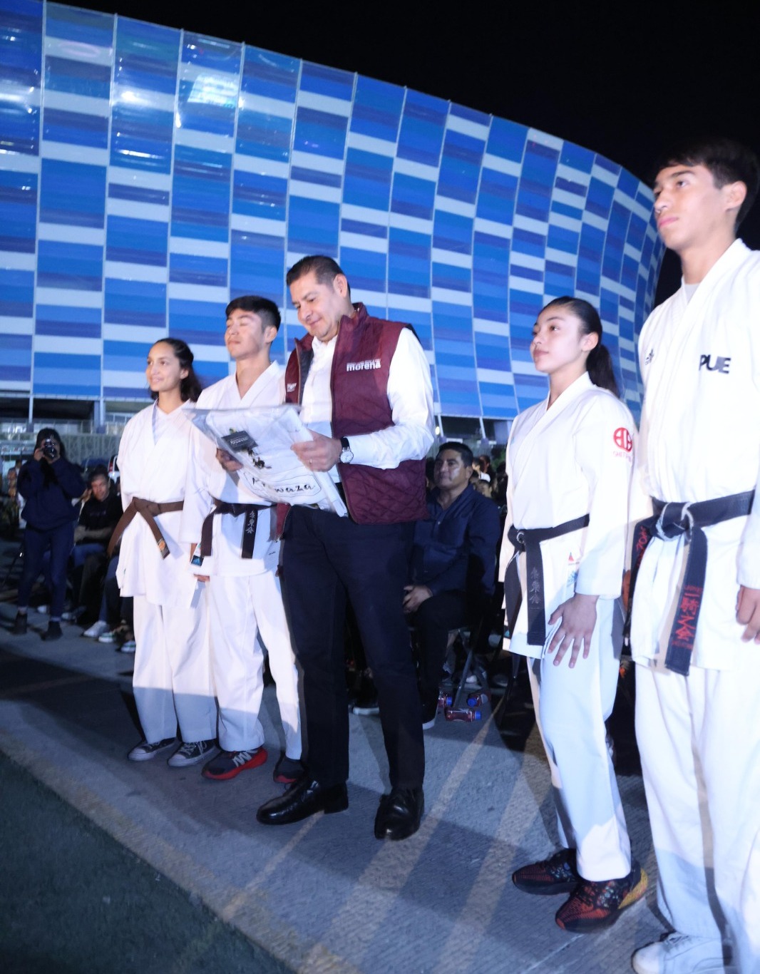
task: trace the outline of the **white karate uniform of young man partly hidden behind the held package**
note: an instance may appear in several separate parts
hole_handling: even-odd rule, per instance
[[[238,392],[235,376],[228,376],[201,393],[198,408],[276,406],[284,399],[285,369],[272,362],[244,396]],[[235,504],[268,504],[252,494],[237,474],[227,473],[216,460],[209,438],[196,432],[182,511],[185,547],[200,542],[214,498]],[[248,559],[241,557],[246,515],[217,514],[211,556],[196,571],[210,578],[211,665],[219,705],[219,745],[225,751],[249,751],[264,742],[258,712],[265,647],[277,685],[285,754],[297,759],[301,757],[298,675],[277,575],[280,543],[275,540],[275,518],[274,506],[259,511]]]

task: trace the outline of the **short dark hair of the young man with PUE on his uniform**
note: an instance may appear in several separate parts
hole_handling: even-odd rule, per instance
[[[734,138],[703,137],[676,142],[655,163],[652,182],[658,172],[671,166],[703,166],[710,170],[718,188],[728,183],[742,182],[746,186],[746,197],[737,213],[737,226],[757,198],[760,163],[751,149]]]

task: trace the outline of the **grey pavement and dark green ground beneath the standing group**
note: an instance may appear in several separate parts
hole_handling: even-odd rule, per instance
[[[46,643],[34,612],[12,637],[14,613],[0,603],[3,970],[610,974],[664,929],[635,773],[619,780],[650,876],[644,901],[573,935],[553,922],[560,897],[513,887],[513,869],[556,845],[549,769],[519,688],[496,719],[486,706],[479,722],[438,719],[426,733],[426,815],[406,842],[372,835],[388,788],[382,734],[353,715],[349,809],[266,828],[255,808],[278,789],[274,688],[261,768],[209,782],[166,756],[135,765],[131,657],[74,625]]]

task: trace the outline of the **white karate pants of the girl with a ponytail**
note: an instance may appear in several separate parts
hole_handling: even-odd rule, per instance
[[[618,880],[630,872],[626,816],[604,726],[618,686],[620,650],[615,647],[622,639],[611,635],[616,614],[614,599],[598,600],[589,658],[580,654],[573,669],[569,650],[558,666],[553,653],[528,659],[536,722],[551,768],[559,841],[576,849],[578,872],[594,882]]]

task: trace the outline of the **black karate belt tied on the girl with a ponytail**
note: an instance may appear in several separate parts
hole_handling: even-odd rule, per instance
[[[528,646],[543,646],[547,640],[547,612],[544,598],[544,561],[541,557],[541,543],[551,538],[569,535],[571,531],[580,531],[589,524],[589,515],[576,517],[564,524],[557,524],[555,528],[510,528],[507,537],[513,543],[514,554],[507,566],[504,577],[504,604],[507,607],[507,619],[513,630],[517,613],[522,604],[522,589],[520,587],[519,572],[517,571],[517,556],[525,552],[527,573],[528,599]]]

